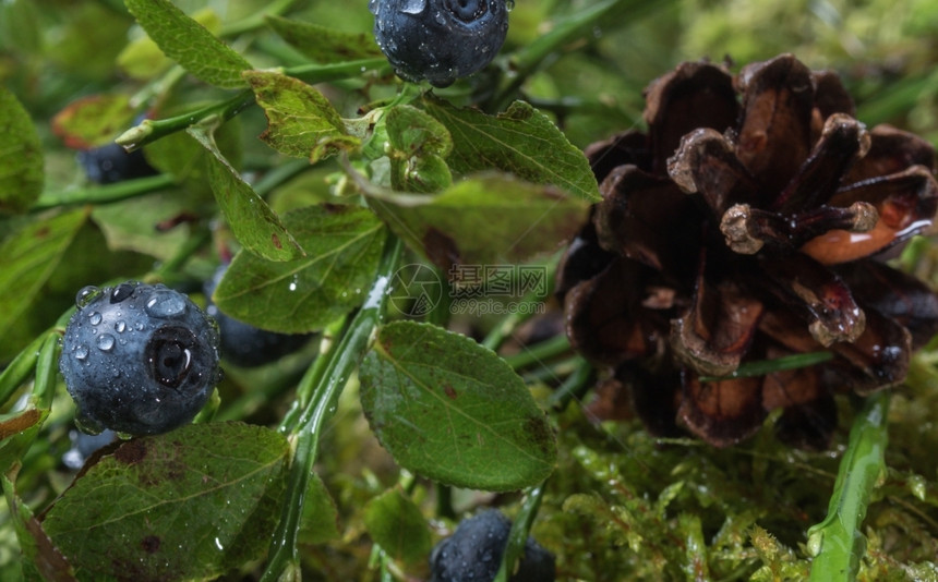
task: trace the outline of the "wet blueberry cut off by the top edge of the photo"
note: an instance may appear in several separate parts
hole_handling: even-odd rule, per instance
[[[505,0],[371,0],[368,8],[397,74],[437,87],[492,62],[508,32]]]

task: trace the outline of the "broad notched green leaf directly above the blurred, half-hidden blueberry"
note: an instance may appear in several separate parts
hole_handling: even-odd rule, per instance
[[[306,256],[273,263],[239,253],[215,290],[215,303],[262,329],[322,329],[364,301],[384,227],[366,208],[329,204],[293,210],[284,221]]]

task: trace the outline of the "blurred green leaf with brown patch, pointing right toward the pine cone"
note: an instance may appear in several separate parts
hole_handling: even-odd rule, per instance
[[[551,186],[485,173],[437,196],[384,196],[369,204],[438,267],[522,263],[551,253],[586,219],[587,204]]]

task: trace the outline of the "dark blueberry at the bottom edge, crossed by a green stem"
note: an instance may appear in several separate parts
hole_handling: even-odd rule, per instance
[[[512,522],[501,511],[490,509],[462,520],[456,531],[436,544],[430,555],[430,582],[490,582],[498,573],[508,543]],[[554,556],[532,537],[512,582],[553,582]]]

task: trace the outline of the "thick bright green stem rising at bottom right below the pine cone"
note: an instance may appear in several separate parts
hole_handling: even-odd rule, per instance
[[[886,471],[889,398],[889,390],[867,398],[850,431],[827,518],[808,530],[808,551],[815,557],[811,581],[850,581],[859,570],[866,551],[859,526],[876,483]]]

